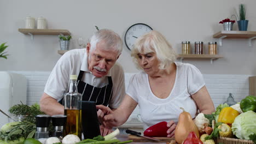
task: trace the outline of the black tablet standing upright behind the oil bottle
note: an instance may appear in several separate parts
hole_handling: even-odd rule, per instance
[[[101,135],[95,102],[81,101],[81,104],[84,139],[92,139],[95,136]]]

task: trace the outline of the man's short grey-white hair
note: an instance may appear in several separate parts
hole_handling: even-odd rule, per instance
[[[107,50],[117,51],[118,56],[121,54],[123,50],[123,41],[117,33],[111,31],[110,29],[100,29],[91,36],[90,50],[94,51],[97,43],[99,43],[102,40],[107,45]]]

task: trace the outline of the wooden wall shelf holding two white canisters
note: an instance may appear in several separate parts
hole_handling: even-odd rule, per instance
[[[29,34],[31,39],[33,39],[33,35],[71,35],[71,33],[67,29],[28,29],[28,28],[19,28],[19,32],[23,34]]]

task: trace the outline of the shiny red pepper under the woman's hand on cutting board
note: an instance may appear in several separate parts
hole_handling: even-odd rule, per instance
[[[167,137],[167,122],[160,122],[152,125],[144,131],[144,136]]]

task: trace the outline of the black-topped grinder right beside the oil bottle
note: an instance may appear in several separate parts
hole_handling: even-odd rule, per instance
[[[58,137],[63,139],[63,129],[65,128],[67,121],[67,116],[65,115],[54,115],[51,116],[51,122],[53,123],[54,131],[53,131],[53,137]]]

